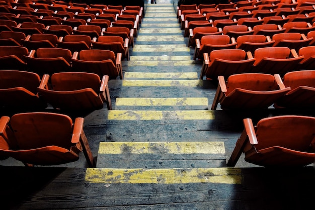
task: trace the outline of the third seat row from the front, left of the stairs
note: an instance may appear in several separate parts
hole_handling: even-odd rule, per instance
[[[109,50],[82,50],[80,53],[61,48],[39,48],[29,53],[25,47],[0,46],[1,69],[19,69],[52,75],[56,72],[96,73],[110,79],[122,79],[121,53]]]

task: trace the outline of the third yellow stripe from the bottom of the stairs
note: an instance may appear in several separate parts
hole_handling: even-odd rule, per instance
[[[108,120],[214,120],[214,112],[192,111],[108,111]]]

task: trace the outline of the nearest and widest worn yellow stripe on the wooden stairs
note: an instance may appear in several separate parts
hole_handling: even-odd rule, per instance
[[[85,180],[93,183],[224,183],[241,184],[239,168],[124,169],[87,168]]]

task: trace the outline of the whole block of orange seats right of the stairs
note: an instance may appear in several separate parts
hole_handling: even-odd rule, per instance
[[[195,47],[194,60],[203,60],[200,79],[218,81],[211,110],[218,103],[222,110],[315,107],[314,5],[267,0],[178,8],[188,46]],[[228,166],[242,153],[261,166],[315,160],[315,118],[270,117],[255,127],[251,119],[243,123]]]

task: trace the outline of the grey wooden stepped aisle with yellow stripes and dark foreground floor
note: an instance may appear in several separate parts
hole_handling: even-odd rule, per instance
[[[310,209],[312,166],[267,169],[226,160],[244,118],[309,110],[210,111],[215,82],[180,30],[171,0],[146,5],[124,79],[110,80],[113,110],[85,118],[96,168],[0,161],[2,209]],[[219,107],[219,106],[218,106]]]

